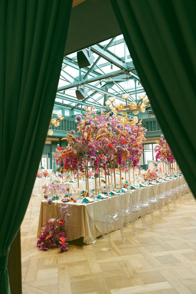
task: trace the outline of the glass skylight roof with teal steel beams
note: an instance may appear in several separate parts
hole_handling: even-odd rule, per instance
[[[105,49],[106,46],[108,46],[108,49]],[[96,53],[94,51],[96,51]],[[56,102],[68,105],[73,111],[81,111],[81,105],[82,107],[84,105],[89,107],[92,104],[96,110],[102,108],[108,109],[107,106],[104,106],[104,101],[107,101],[111,95],[115,96],[115,103],[119,103],[120,100],[123,100],[121,96],[125,89],[125,78],[127,74],[129,77],[129,101],[136,99],[135,86],[137,88],[137,98],[139,94],[145,93],[143,87],[140,85],[138,74],[135,71],[123,35],[91,46],[91,54],[94,56],[91,66],[94,63],[96,65],[85,78],[84,75],[91,66],[82,68],[80,71],[77,63],[77,52],[64,57]],[[98,58],[100,59],[97,61]],[[94,79],[94,81],[91,81],[92,79]],[[78,100],[76,98],[76,89],[78,86],[82,88],[84,86],[85,91],[88,92],[86,98],[83,100]],[[109,95],[107,95],[105,91],[107,91]]]

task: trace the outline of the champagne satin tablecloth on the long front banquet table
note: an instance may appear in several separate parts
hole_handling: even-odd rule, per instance
[[[170,180],[168,183],[171,184]],[[152,193],[156,195],[157,189],[160,183],[156,183],[153,185]],[[151,185],[150,185],[151,186]],[[138,188],[140,189],[140,193],[145,193],[146,188]],[[147,191],[147,190],[146,190]],[[133,196],[135,190],[131,190],[130,193]],[[152,194],[152,195],[153,195]],[[120,194],[122,195],[122,194]],[[116,201],[118,201],[118,197],[120,195],[116,195]],[[67,219],[66,229],[68,234],[68,240],[75,240],[78,238],[83,237],[83,241],[86,244],[90,244],[96,240],[96,238],[102,235],[102,227],[100,224],[92,224],[90,222],[91,218],[96,218],[104,213],[107,213],[107,204],[110,198],[101,199],[99,201],[94,201],[92,203],[63,203],[60,199],[53,201],[51,205],[51,213],[52,216],[56,219],[62,218],[59,209],[62,206],[68,204],[68,213],[70,214],[69,218]],[[37,235],[40,235],[41,226],[48,221],[51,217],[50,211],[48,208],[48,204],[46,200],[41,201],[41,208],[40,208],[40,215],[39,215],[39,223],[38,223],[38,231]],[[139,215],[138,215],[139,217]],[[115,230],[116,227],[110,226],[110,231]]]

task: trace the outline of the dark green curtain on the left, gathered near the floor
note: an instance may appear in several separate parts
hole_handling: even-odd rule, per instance
[[[0,293],[53,109],[71,0],[0,1]]]

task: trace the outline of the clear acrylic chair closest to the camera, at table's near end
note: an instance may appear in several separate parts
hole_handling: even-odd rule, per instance
[[[124,234],[123,234],[123,226],[122,221],[119,213],[119,197],[112,196],[110,200],[108,201],[107,205],[107,213],[104,215],[98,216],[96,218],[91,218],[91,223],[98,223],[102,225],[102,237],[104,238],[105,235],[105,227],[108,235],[108,242],[109,242],[109,248],[112,250],[111,245],[111,238],[110,238],[110,224],[118,224],[120,228],[120,234],[123,243],[125,242]]]

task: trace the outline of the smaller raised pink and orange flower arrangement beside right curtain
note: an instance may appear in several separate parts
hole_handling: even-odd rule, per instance
[[[166,140],[164,140],[164,135],[161,135],[160,142],[156,141],[158,145],[155,146],[155,159],[158,161],[160,159],[161,162],[168,162],[172,163],[175,161],[175,158],[173,156],[173,153],[167,144]]]

